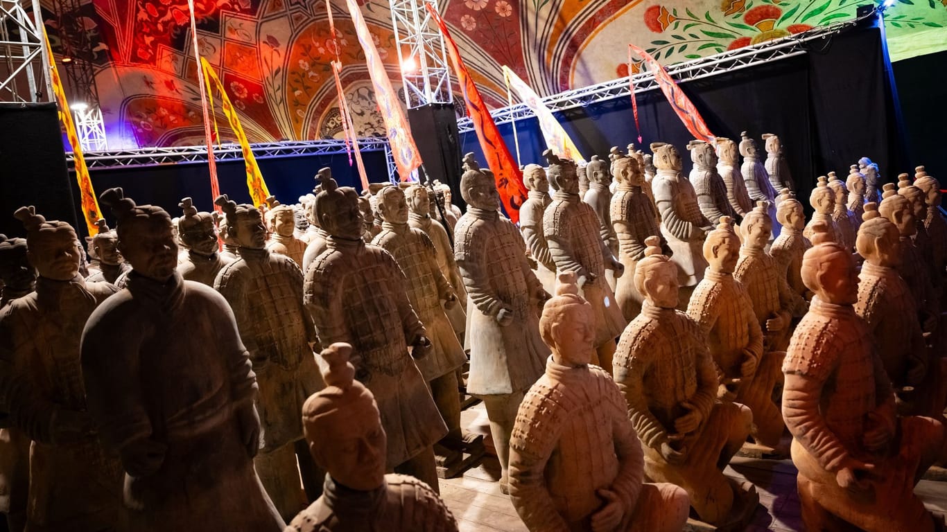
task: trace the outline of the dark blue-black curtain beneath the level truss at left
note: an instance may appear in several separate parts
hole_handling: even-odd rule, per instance
[[[362,153],[368,173],[368,181],[387,181],[384,151]],[[292,157],[258,158],[257,163],[270,193],[284,204],[295,204],[299,196],[313,191],[314,176],[319,168],[332,168],[332,177],[339,186],[354,186],[361,191],[362,183],[354,165],[348,166],[348,156],[299,155]],[[250,203],[250,192],[246,187],[246,167],[243,160],[217,163],[221,193],[227,194],[238,204]],[[100,194],[112,186],[121,186],[125,195],[139,204],[156,204],[167,210],[172,217],[181,216],[178,207],[181,198],[190,196],[198,210],[209,211],[214,199],[210,197],[210,181],[206,163],[171,164],[147,168],[93,168],[92,185]],[[79,188],[72,180],[73,193],[79,198]],[[108,207],[101,206],[104,218],[110,226],[114,217]],[[76,202],[77,212],[79,209]],[[14,220],[15,222],[15,220]],[[80,227],[85,232],[85,227]]]

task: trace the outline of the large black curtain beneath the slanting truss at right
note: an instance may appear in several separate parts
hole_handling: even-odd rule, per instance
[[[868,20],[831,38],[811,42],[804,54],[681,83],[710,131],[740,139],[745,131],[763,147],[760,135],[780,136],[803,204],[819,175],[848,175],[849,165],[868,156],[885,179],[906,171],[898,133],[883,36]],[[637,95],[644,150],[652,142],[678,147],[691,167],[686,146],[693,138],[660,90]],[[612,146],[637,142],[631,98],[616,98],[557,113],[563,128],[589,158]],[[942,122],[941,122],[942,123]],[[521,165],[545,164],[542,133],[535,118],[518,120]],[[500,126],[514,151],[512,125]],[[463,151],[482,159],[476,134],[461,135]],[[515,153],[514,153],[515,156]],[[913,167],[911,167],[913,168]]]

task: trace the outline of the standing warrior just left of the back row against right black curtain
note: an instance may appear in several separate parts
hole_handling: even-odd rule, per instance
[[[644,175],[638,160],[618,153],[612,168],[618,184],[612,196],[612,224],[618,238],[618,259],[625,267],[624,275],[617,279],[615,299],[625,319],[630,321],[641,312],[644,302],[644,296],[634,288],[634,268],[638,260],[645,257],[645,239],[660,236],[660,217],[642,190]],[[670,256],[668,243],[663,237],[661,245],[665,254]]]

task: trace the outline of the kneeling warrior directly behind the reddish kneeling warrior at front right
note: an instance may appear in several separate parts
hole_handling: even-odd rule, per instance
[[[874,334],[888,380],[894,387],[898,413],[918,414],[919,400],[933,393],[924,390],[930,355],[918,320],[918,305],[898,273],[901,242],[894,223],[878,215],[877,206],[866,204],[866,219],[858,231],[858,254],[865,258],[859,274],[855,312]],[[920,394],[918,392],[921,392]]]

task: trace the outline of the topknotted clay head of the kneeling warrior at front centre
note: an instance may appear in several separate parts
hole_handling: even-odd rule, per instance
[[[576,272],[560,272],[556,295],[545,302],[540,334],[556,364],[579,367],[595,350],[595,312],[579,295]]]

